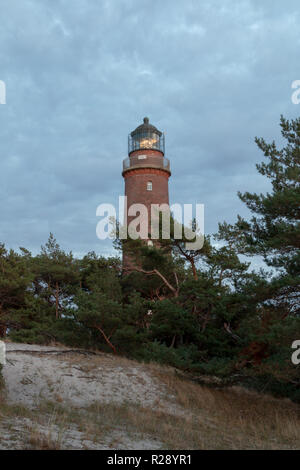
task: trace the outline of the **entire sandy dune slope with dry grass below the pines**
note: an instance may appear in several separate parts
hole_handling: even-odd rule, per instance
[[[299,448],[289,400],[213,390],[112,354],[6,346],[0,450]]]

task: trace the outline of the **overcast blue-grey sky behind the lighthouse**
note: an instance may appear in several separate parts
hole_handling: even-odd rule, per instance
[[[53,232],[109,254],[96,207],[124,192],[127,135],[166,133],[170,202],[204,203],[205,231],[265,192],[255,136],[279,139],[300,79],[299,0],[0,0],[0,241]]]

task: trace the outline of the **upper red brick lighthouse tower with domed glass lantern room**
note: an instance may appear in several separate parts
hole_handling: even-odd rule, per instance
[[[169,204],[168,180],[171,175],[170,162],[165,158],[165,136],[149,123],[147,117],[128,136],[128,158],[123,161],[125,196],[127,208],[132,204],[144,204],[148,209],[149,233],[152,204]],[[134,217],[128,215],[127,223]],[[148,238],[148,244],[152,241]],[[123,254],[123,268],[130,259]]]

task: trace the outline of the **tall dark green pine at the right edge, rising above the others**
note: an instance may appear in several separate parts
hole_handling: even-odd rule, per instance
[[[299,400],[299,373],[290,357],[300,334],[300,118],[281,117],[280,126],[282,148],[256,138],[267,159],[257,169],[270,179],[272,190],[239,193],[254,215],[250,221],[238,217],[235,225],[220,224],[220,234],[237,252],[262,256],[271,269],[252,274],[242,286],[252,307],[239,323],[244,348],[237,366]]]

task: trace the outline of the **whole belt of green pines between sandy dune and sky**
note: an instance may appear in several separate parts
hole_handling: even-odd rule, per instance
[[[201,249],[160,233],[160,248],[116,239],[134,260],[66,253],[53,234],[37,256],[0,245],[0,337],[100,349],[217,376],[300,401],[300,119],[281,118],[286,145],[256,139],[266,195],[245,192],[252,212],[220,224]],[[195,223],[193,223],[195,229]],[[243,256],[242,256],[243,255]],[[251,271],[251,256],[267,269]]]

